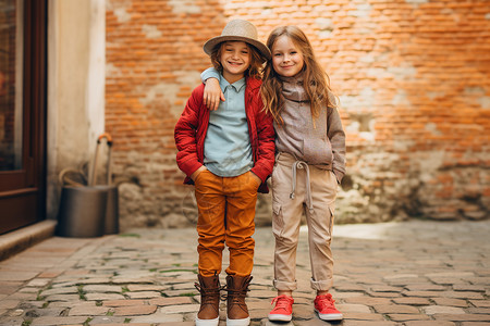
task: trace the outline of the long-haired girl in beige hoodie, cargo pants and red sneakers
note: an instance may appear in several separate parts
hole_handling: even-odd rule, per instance
[[[333,276],[330,250],[333,210],[338,185],[345,173],[345,134],[329,77],[306,35],[295,26],[278,27],[270,34],[267,46],[272,60],[265,68],[261,96],[265,111],[273,116],[277,134],[271,185],[273,285],[278,297],[272,300],[275,306],[269,319],[292,319],[303,212],[308,224],[310,285],[317,292],[315,311],[324,321],[342,319],[329,289]],[[205,72],[203,79],[211,73]],[[205,91],[208,106],[216,105],[219,98],[216,88],[210,93]]]

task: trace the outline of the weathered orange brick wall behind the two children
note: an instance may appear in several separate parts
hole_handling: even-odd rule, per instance
[[[173,127],[209,66],[203,43],[235,17],[264,41],[294,23],[324,64],[348,145],[338,222],[488,217],[488,1],[107,0],[106,126],[114,174],[133,178],[123,227],[195,215]],[[270,220],[269,196],[258,217]]]

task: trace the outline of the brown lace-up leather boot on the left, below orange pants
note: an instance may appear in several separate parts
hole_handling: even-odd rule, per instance
[[[220,278],[218,275],[204,277],[197,275],[199,284],[194,286],[200,292],[200,309],[196,326],[218,326],[220,321]]]

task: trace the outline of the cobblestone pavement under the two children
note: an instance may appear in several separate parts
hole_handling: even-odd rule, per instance
[[[281,325],[330,325],[313,311],[306,235],[293,322]],[[335,226],[332,293],[345,319],[332,325],[490,325],[489,235],[490,221]],[[255,238],[252,325],[274,325],[273,237]],[[194,229],[45,240],[0,262],[0,325],[194,325],[196,243]]]

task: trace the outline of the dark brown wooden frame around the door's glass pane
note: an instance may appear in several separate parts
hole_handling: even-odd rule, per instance
[[[47,0],[24,1],[23,166],[0,173],[0,234],[46,218]]]

